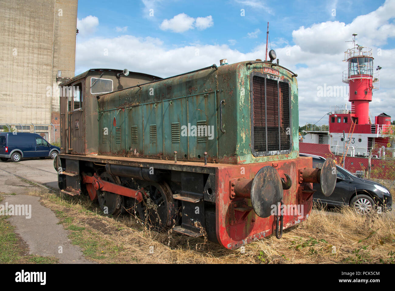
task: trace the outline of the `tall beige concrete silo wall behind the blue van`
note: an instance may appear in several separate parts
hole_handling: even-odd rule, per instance
[[[58,117],[58,70],[74,76],[77,4],[0,0],[0,124],[50,124]]]

